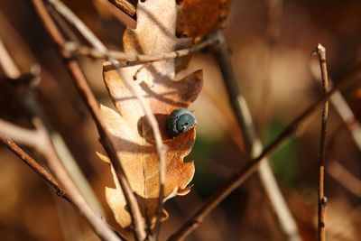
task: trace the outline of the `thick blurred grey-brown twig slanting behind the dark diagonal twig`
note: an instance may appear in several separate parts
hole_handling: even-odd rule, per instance
[[[236,84],[236,75],[232,67],[231,56],[227,50],[224,35],[222,32],[218,32],[217,36],[219,44],[215,46],[214,49],[215,57],[216,60],[218,60],[218,65],[227,87],[230,105],[242,131],[242,135],[244,136],[245,153],[248,159],[251,160],[261,153],[263,146],[259,138],[255,135],[255,126],[245,97]],[[272,168],[266,157],[259,167],[258,174],[267,197],[273,205],[274,212],[278,217],[283,233],[290,241],[301,240],[296,221],[293,219],[292,213],[287,207],[287,203],[282,196],[282,192],[277,185]]]

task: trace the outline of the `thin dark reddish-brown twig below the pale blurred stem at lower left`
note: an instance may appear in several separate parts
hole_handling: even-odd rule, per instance
[[[3,124],[0,124],[0,125],[3,125]],[[7,146],[7,148],[10,151],[12,151],[17,157],[19,157],[33,171],[38,173],[42,177],[42,179],[47,181],[51,185],[51,187],[53,187],[57,191],[58,196],[60,196],[63,199],[67,199],[69,202],[71,202],[71,200],[69,199],[65,190],[62,190],[60,188],[58,181],[55,180],[55,178],[51,175],[51,173],[49,173],[48,171],[43,169],[42,166],[38,162],[35,162],[32,159],[32,157],[30,155],[28,155],[28,153],[25,153],[23,151],[23,149],[20,148],[20,146],[18,146],[17,144],[14,143],[13,140],[11,140],[7,137],[4,137],[4,136],[0,136],[0,140],[3,144],[5,144]]]

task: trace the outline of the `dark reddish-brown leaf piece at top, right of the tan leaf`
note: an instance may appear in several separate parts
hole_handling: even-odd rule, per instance
[[[224,28],[231,0],[182,0],[177,20],[177,34],[200,42],[203,36]]]

